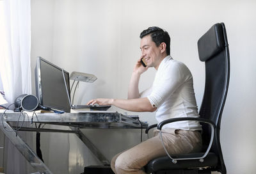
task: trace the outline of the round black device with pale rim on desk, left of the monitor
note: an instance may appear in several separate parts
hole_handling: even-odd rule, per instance
[[[35,95],[27,95],[22,94],[17,99],[15,99],[14,106],[15,111],[24,110],[24,111],[35,111],[35,109],[38,107],[39,100]]]

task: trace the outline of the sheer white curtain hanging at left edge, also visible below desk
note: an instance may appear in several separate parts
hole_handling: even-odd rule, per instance
[[[20,94],[31,94],[30,5],[30,0],[0,1],[0,75],[10,104]],[[7,138],[4,158],[6,173],[28,173],[26,160]]]

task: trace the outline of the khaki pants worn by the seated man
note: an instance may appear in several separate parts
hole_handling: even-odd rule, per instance
[[[111,160],[111,168],[116,174],[145,173],[142,168],[150,160],[166,155],[159,130],[155,136],[142,143],[115,155]],[[186,154],[199,152],[202,147],[202,136],[199,131],[175,129],[162,130],[163,142],[169,154]]]

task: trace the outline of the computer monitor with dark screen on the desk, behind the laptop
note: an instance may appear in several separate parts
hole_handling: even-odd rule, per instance
[[[68,91],[70,91],[69,74],[65,70],[64,74]],[[36,58],[35,83],[36,97],[43,107],[70,112],[67,90],[60,67],[44,58]]]

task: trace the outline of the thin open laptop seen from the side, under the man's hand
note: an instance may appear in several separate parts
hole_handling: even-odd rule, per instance
[[[71,103],[70,91],[68,90],[68,87],[67,87],[67,82],[66,82],[66,79],[65,79],[63,68],[62,68],[62,75],[63,75],[65,88],[66,88],[67,95],[68,95],[68,102],[69,102],[69,105],[70,105],[71,109],[90,109],[90,110],[97,110],[97,111],[106,111],[106,110],[109,109],[109,107],[111,107],[110,105],[73,105]],[[68,83],[69,83],[69,81],[68,81]]]

